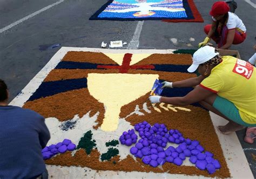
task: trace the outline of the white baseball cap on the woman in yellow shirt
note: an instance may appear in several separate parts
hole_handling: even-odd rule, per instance
[[[208,60],[211,60],[214,58],[214,56],[219,55],[218,52],[215,52],[215,48],[211,46],[204,46],[199,48],[194,54],[193,54],[193,63],[192,65],[187,69],[188,72],[193,73],[197,70],[198,66],[201,63],[207,62]]]

